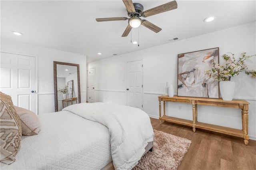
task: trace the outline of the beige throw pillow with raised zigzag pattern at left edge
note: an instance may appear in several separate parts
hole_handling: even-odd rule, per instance
[[[0,99],[0,162],[11,164],[20,146],[22,129],[12,103]]]

